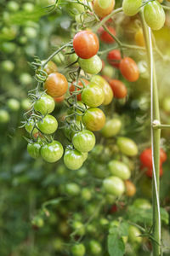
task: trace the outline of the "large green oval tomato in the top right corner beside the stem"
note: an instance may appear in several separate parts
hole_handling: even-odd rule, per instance
[[[165,23],[165,12],[161,4],[151,1],[144,5],[144,20],[153,30],[159,30]]]

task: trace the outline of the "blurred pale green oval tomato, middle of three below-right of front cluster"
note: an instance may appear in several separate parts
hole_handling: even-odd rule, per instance
[[[111,160],[108,166],[112,175],[120,177],[123,180],[128,179],[131,176],[129,168],[121,161]]]

